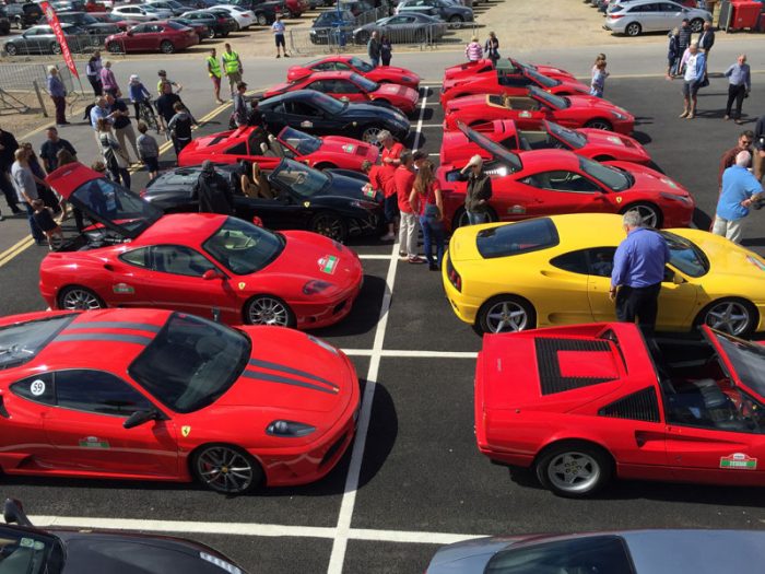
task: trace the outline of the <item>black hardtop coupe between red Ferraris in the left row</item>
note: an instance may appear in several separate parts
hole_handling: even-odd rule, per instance
[[[342,133],[367,143],[377,143],[381,130],[403,141],[409,136],[409,119],[396,109],[370,104],[350,104],[316,92],[296,90],[269,97],[258,104],[271,131],[284,126],[319,134]]]

